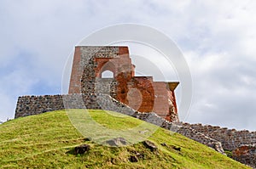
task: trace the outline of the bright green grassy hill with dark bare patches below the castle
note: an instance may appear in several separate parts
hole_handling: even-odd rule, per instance
[[[152,152],[142,142],[123,147],[108,147],[90,141],[85,132],[78,132],[70,115],[90,115],[102,127],[126,130],[140,126],[130,116],[102,110],[65,110],[15,119],[0,125],[0,168],[249,168],[225,155],[218,154],[177,133],[158,128],[148,140],[157,145]],[[86,119],[84,129],[92,129]],[[86,126],[87,125],[87,126]],[[153,125],[148,124],[148,130]],[[88,131],[88,130],[87,130]],[[103,133],[100,133],[102,135]],[[131,135],[131,138],[136,138]],[[161,145],[165,143],[166,145]],[[74,155],[74,147],[89,144],[84,155]],[[181,148],[180,151],[173,147]],[[131,162],[132,155],[141,155]]]

